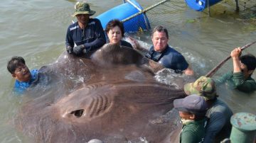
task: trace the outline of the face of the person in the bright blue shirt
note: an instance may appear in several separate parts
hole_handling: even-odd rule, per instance
[[[29,71],[26,64],[20,64],[14,71],[12,76],[17,79],[18,81],[30,81],[31,79],[31,72]]]

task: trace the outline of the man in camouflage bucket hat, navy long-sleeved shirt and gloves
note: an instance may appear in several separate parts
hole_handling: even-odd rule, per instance
[[[90,18],[95,11],[90,10],[89,4],[85,1],[75,4],[73,16],[78,22],[68,27],[65,39],[65,46],[68,53],[84,55],[94,52],[106,43],[105,33],[100,21],[97,18]]]

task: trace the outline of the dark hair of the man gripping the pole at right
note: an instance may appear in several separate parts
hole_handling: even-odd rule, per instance
[[[242,55],[240,57],[240,61],[242,62],[242,64],[246,65],[248,71],[255,70],[255,67],[256,67],[256,57],[254,55],[251,55],[251,54]]]

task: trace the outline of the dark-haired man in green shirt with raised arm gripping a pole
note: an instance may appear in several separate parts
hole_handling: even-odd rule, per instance
[[[256,90],[256,82],[251,77],[256,67],[256,58],[250,54],[240,57],[241,54],[240,47],[231,52],[233,71],[224,74],[219,79],[214,79],[216,86],[228,81],[228,86],[242,92],[250,93]]]

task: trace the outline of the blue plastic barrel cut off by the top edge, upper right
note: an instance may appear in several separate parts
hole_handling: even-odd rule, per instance
[[[221,0],[185,0],[188,6],[196,11],[203,11],[207,8],[207,2],[209,1],[209,6],[217,4]]]

